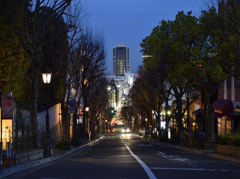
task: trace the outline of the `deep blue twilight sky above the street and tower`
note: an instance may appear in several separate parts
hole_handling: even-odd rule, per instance
[[[107,73],[113,73],[113,48],[122,43],[129,48],[129,69],[136,73],[142,64],[140,43],[161,20],[174,20],[178,11],[199,16],[203,0],[83,0],[88,23],[105,39]]]

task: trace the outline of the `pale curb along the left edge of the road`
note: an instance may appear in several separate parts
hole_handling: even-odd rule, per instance
[[[57,160],[57,159],[61,159],[61,158],[65,157],[66,155],[75,152],[76,150],[79,150],[79,149],[81,149],[81,148],[83,148],[87,145],[90,145],[92,143],[97,142],[102,137],[100,137],[99,139],[97,139],[95,141],[88,142],[88,143],[83,144],[79,147],[76,147],[72,150],[69,150],[69,151],[65,152],[63,155],[54,155],[52,157],[43,158],[43,159],[39,159],[39,160],[35,160],[35,161],[32,161],[32,162],[27,162],[27,163],[15,165],[15,166],[3,169],[3,171],[0,172],[0,178],[6,177],[8,175],[17,173],[19,171],[22,171],[22,170],[25,170],[25,169],[28,169],[28,168],[31,168],[31,167],[36,167],[36,166],[41,165],[41,164],[45,164],[45,163],[52,162],[52,161]]]

